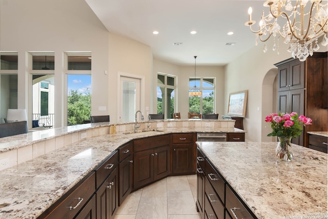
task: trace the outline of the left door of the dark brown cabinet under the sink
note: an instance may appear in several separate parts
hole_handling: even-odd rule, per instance
[[[133,189],[137,189],[154,181],[154,150],[135,152],[133,157]]]

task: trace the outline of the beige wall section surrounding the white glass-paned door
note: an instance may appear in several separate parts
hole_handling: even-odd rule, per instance
[[[119,95],[117,91],[117,74],[118,72],[136,77],[145,78],[145,87],[141,88],[141,112],[146,115],[146,107],[150,107],[151,99],[151,69],[153,56],[151,48],[144,44],[138,43],[131,39],[109,34],[109,78],[108,87],[110,93],[108,96],[109,114],[111,122],[116,123],[117,106],[119,105]]]

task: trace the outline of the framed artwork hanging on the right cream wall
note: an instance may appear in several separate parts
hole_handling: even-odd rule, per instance
[[[248,90],[229,94],[228,115],[245,117]]]

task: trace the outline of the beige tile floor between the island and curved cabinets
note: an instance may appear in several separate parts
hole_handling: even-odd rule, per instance
[[[199,219],[195,175],[169,176],[132,192],[114,219]]]

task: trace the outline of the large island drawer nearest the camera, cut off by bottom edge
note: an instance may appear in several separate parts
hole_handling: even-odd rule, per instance
[[[226,185],[227,194],[226,194],[226,207],[227,211],[231,214],[231,217],[234,217],[234,214],[237,218],[243,219],[253,219],[254,217],[250,212],[241,204],[238,197],[232,192],[230,187]]]

